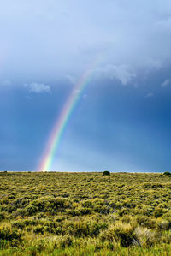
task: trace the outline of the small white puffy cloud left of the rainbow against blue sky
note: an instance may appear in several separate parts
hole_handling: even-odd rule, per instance
[[[51,92],[49,85],[43,83],[32,82],[31,84],[25,84],[29,92],[41,93],[41,92]]]

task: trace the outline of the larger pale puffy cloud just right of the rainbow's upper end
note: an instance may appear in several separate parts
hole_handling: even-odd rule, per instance
[[[95,74],[97,76],[103,76],[105,78],[108,78],[110,80],[120,80],[122,85],[127,85],[128,82],[133,80],[135,78],[135,74],[129,70],[127,66],[121,65],[121,66],[116,66],[116,65],[107,65],[103,68],[96,68],[94,70]]]

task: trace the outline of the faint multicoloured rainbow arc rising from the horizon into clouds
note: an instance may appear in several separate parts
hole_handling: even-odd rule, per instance
[[[97,57],[97,60],[91,64],[91,67],[87,69],[85,74],[80,77],[80,80],[78,80],[78,82],[74,86],[73,91],[69,95],[68,100],[64,104],[62,112],[60,116],[58,116],[55,125],[50,133],[48,142],[45,146],[44,154],[38,164],[38,171],[50,171],[56,149],[59,146],[63,131],[68,124],[69,117],[71,116],[74,107],[78,99],[80,98],[81,93],[85,89],[85,86],[91,80],[93,70],[96,67],[98,61],[99,57]]]

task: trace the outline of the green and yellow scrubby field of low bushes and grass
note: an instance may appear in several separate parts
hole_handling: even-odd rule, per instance
[[[0,172],[0,255],[171,255],[171,176]]]

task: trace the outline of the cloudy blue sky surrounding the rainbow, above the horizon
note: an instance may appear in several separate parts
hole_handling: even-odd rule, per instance
[[[38,170],[90,68],[50,170],[171,170],[170,1],[0,3],[0,170]]]

